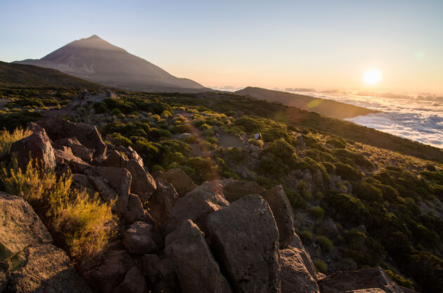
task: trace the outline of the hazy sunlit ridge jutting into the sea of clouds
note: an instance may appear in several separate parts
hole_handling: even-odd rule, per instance
[[[258,98],[259,100],[279,102],[284,105],[317,112],[321,115],[337,119],[352,118],[378,112],[363,107],[336,102],[335,100],[313,98],[310,96],[297,95],[295,93],[285,93],[284,91],[271,91],[269,89],[260,89],[252,86],[236,91],[236,93],[241,96]]]

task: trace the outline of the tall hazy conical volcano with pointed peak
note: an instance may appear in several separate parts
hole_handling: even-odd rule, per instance
[[[96,34],[72,41],[44,58],[15,63],[49,67],[90,82],[131,91],[206,90],[201,84],[191,79],[174,77]]]

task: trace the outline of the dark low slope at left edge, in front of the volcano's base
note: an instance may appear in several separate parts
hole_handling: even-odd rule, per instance
[[[105,86],[94,84],[78,77],[33,65],[5,63],[0,61],[0,86],[17,87],[63,87],[69,89],[103,89]]]

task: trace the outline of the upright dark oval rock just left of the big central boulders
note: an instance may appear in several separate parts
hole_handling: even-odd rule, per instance
[[[157,191],[150,197],[146,208],[153,217],[156,226],[161,227],[167,219],[169,219],[175,202],[179,199],[179,194],[176,192],[174,186],[166,181],[160,179],[156,181],[156,184]]]

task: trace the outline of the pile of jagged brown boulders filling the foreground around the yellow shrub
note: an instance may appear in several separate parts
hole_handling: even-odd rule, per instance
[[[381,268],[317,274],[281,185],[233,179],[198,186],[181,169],[150,174],[95,126],[50,117],[14,143],[18,164],[70,172],[113,204],[119,237],[94,270],[75,271],[30,204],[0,193],[0,292],[408,293]]]

